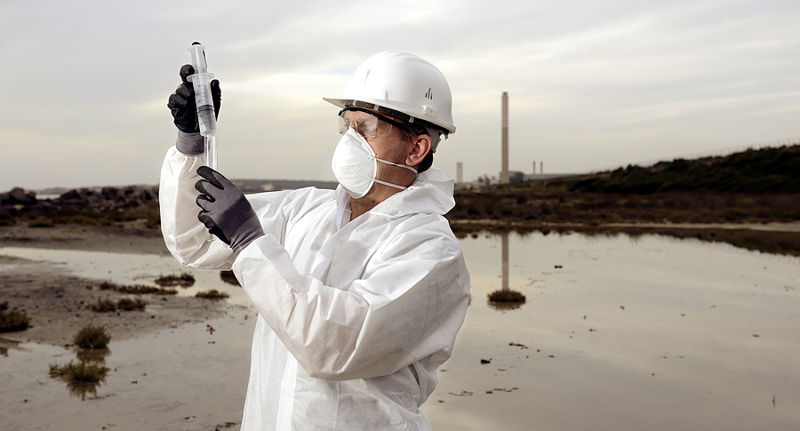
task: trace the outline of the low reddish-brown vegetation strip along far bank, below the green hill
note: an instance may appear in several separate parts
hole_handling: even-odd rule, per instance
[[[450,220],[539,224],[767,223],[800,220],[798,194],[663,192],[646,195],[571,192],[520,184],[456,193]]]

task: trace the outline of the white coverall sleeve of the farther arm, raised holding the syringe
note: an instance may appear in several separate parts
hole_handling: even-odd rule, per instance
[[[196,171],[202,165],[200,156],[183,154],[174,146],[167,151],[158,191],[161,233],[167,249],[182,265],[227,270],[236,257],[233,250],[209,234],[197,219],[200,208],[195,203],[198,192],[194,185],[200,180]],[[246,196],[266,233],[281,235],[286,222],[282,202],[290,193],[287,190]]]

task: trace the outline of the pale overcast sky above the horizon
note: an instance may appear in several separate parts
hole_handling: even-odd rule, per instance
[[[0,7],[0,190],[155,184],[187,47],[223,91],[219,167],[333,180],[364,58],[428,59],[457,132],[434,165],[582,172],[800,137],[800,1],[14,1]]]

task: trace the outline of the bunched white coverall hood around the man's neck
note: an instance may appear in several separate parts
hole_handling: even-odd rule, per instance
[[[456,205],[454,185],[455,181],[449,175],[431,168],[419,174],[407,189],[393,194],[369,212],[391,217],[418,213],[444,215]],[[347,197],[341,185],[336,188],[336,196],[338,200]]]

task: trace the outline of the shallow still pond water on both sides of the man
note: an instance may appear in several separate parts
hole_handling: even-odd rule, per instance
[[[481,235],[462,246],[472,299],[423,406],[434,429],[800,428],[800,258],[648,235]],[[150,255],[0,254],[118,283],[183,270]],[[216,271],[191,273],[197,289],[222,286]],[[487,295],[504,287],[526,302],[490,306]],[[240,290],[226,291],[246,304]],[[112,340],[111,372],[84,401],[48,377],[48,364],[74,352],[13,345],[0,356],[3,427],[213,430],[237,422],[253,316],[242,307]]]

